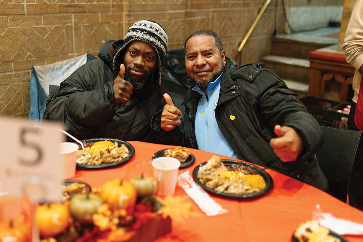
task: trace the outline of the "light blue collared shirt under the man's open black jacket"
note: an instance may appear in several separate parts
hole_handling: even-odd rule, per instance
[[[236,153],[234,153],[220,131],[215,116],[222,74],[214,82],[208,84],[208,100],[205,93],[198,86],[192,89],[192,91],[202,95],[195,116],[195,136],[200,150],[238,159]]]

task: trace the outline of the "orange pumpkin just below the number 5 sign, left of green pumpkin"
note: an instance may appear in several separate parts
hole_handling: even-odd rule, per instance
[[[66,230],[69,223],[69,210],[63,204],[40,205],[35,212],[39,234],[51,237]]]

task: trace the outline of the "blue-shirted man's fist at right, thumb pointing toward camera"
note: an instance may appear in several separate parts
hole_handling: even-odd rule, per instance
[[[291,127],[276,125],[274,128],[277,138],[270,140],[270,146],[277,157],[284,162],[295,161],[304,146],[298,133]]]

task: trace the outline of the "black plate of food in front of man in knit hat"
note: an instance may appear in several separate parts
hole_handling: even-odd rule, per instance
[[[82,140],[77,151],[77,167],[106,168],[120,165],[130,160],[135,153],[131,144],[118,139],[86,139]]]

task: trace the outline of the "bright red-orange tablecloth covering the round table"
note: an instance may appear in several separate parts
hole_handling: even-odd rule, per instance
[[[134,156],[116,168],[99,170],[77,170],[71,179],[87,182],[99,187],[105,181],[135,174],[138,161],[151,160],[152,154],[170,145],[150,144],[139,141],[129,142],[135,148]],[[193,169],[207,161],[212,153],[190,149],[196,158],[193,165],[180,169],[179,174]],[[222,159],[228,157],[221,156]],[[230,159],[230,158],[229,158]],[[141,172],[141,171],[140,171]],[[312,212],[320,204],[322,212],[350,221],[363,223],[363,212],[344,202],[300,181],[281,173],[266,170],[273,179],[274,187],[262,197],[248,200],[231,200],[217,196],[212,198],[228,213],[208,217],[193,202],[193,209],[201,213],[199,218],[189,218],[186,223],[173,222],[172,232],[158,241],[291,241],[291,235],[300,223],[311,220]],[[175,195],[187,196],[180,186]],[[363,241],[363,237],[348,235],[349,241]]]

